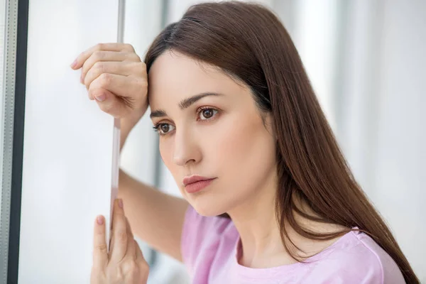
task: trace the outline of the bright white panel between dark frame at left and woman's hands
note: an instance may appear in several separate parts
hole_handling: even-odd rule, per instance
[[[70,64],[116,41],[118,1],[30,1],[28,18],[18,282],[89,283],[94,219],[109,222],[114,120]]]

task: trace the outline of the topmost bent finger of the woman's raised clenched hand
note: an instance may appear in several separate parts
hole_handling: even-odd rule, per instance
[[[81,82],[84,82],[84,78],[86,77],[87,72],[93,67],[95,63],[116,61],[141,62],[141,58],[139,58],[136,53],[97,50],[84,62],[82,67],[82,75],[80,78]]]

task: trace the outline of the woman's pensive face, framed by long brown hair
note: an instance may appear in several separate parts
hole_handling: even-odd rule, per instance
[[[271,191],[265,188],[276,175],[271,118],[265,116],[265,126],[245,84],[170,51],[155,60],[148,78],[161,157],[197,212],[223,214]],[[192,175],[213,180],[185,187]],[[201,185],[207,187],[191,192]]]

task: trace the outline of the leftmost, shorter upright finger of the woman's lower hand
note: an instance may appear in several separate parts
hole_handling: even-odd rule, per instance
[[[105,219],[98,216],[94,222],[93,266],[103,268],[108,263],[107,241],[105,240]]]

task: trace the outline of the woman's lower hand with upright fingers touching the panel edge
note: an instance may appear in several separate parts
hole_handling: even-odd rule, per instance
[[[93,266],[91,284],[145,284],[149,266],[133,239],[129,221],[124,216],[123,202],[115,200],[109,252],[104,217],[94,224]]]

